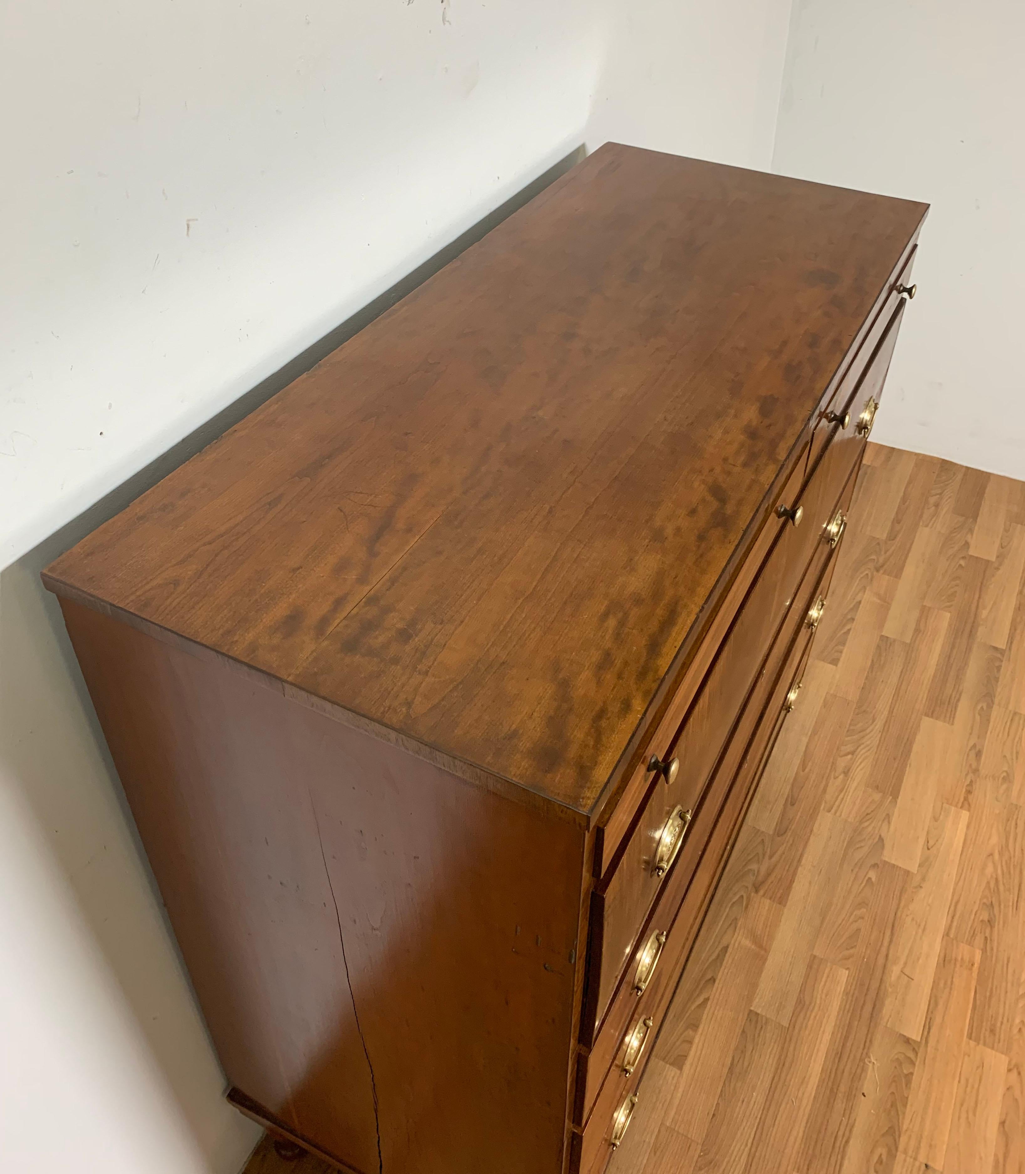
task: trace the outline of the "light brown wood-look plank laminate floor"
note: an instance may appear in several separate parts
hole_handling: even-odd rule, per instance
[[[1025,1174],[1023,978],[1025,484],[870,445],[611,1174]]]

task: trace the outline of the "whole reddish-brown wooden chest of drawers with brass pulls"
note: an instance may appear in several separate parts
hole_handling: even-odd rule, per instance
[[[48,568],[243,1112],[359,1174],[605,1167],[925,211],[603,147]]]

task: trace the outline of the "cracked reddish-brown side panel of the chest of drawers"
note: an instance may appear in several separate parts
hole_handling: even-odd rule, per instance
[[[63,608],[231,1084],[363,1174],[557,1170],[582,835]]]

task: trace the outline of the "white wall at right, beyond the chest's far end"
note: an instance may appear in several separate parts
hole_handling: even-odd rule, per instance
[[[795,0],[773,169],[932,204],[874,437],[1025,478],[1025,6]]]

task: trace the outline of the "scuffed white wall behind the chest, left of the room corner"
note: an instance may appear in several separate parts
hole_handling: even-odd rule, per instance
[[[585,136],[767,166],[781,2],[4,7],[5,1169],[234,1174],[257,1136],[40,568]]]

